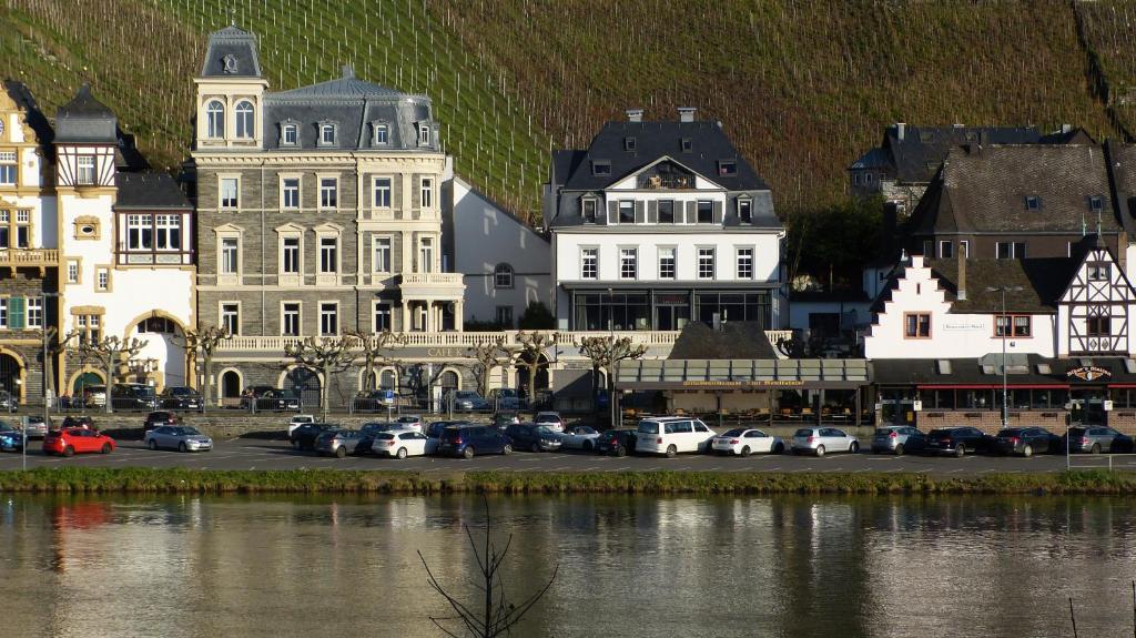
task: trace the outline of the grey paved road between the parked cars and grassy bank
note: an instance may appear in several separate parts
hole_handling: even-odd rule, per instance
[[[284,440],[231,439],[216,442],[212,452],[182,454],[178,452],[150,451],[140,440],[119,440],[112,454],[81,454],[72,459],[48,456],[32,442],[27,454],[27,467],[105,467],[105,468],[194,468],[210,470],[294,470],[314,468],[340,468],[344,470],[410,470],[418,472],[453,472],[462,470],[527,470],[549,472],[617,472],[617,471],[769,471],[769,472],[929,472],[934,475],[972,476],[988,472],[1047,472],[1064,470],[1066,460],[1060,455],[1037,455],[1030,459],[1017,456],[887,456],[868,453],[829,454],[815,456],[752,455],[746,459],[733,456],[680,455],[675,459],[654,456],[599,456],[583,452],[527,453],[516,452],[509,456],[487,455],[471,461],[433,456],[411,457],[404,461],[374,456],[319,456],[312,452],[296,452]],[[1136,470],[1136,454],[1117,454],[1111,457],[1113,468]],[[0,454],[0,470],[19,469],[20,454]],[[1078,468],[1104,467],[1109,456],[1074,456]]]

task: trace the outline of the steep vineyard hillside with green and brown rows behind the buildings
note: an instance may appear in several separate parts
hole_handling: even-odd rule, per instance
[[[459,173],[534,218],[550,148],[586,144],[629,107],[721,120],[791,220],[842,200],[845,167],[892,121],[1101,138],[1136,124],[1136,7],[1121,0],[8,0],[0,74],[49,112],[90,78],[173,166],[204,39],[231,19],[260,35],[274,90],[353,62],[429,94]]]

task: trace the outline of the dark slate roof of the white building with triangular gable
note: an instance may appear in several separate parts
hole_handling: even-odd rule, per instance
[[[635,150],[625,149],[627,137],[635,138]],[[682,149],[684,138],[691,141],[690,151]],[[553,184],[553,187],[600,191],[663,157],[670,157],[728,191],[769,190],[769,185],[737,152],[721,126],[713,121],[609,121],[583,153],[570,156],[567,163],[575,166],[563,176],[563,182]],[[593,160],[610,161],[611,175],[592,175]],[[718,160],[736,161],[737,175],[718,175]],[[560,161],[563,162],[563,159]],[[554,177],[560,179],[561,175],[558,173]]]

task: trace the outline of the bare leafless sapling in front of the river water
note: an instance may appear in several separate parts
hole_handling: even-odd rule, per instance
[[[442,584],[437,581],[434,572],[431,571],[429,565],[426,564],[423,553],[418,552],[418,559],[421,560],[423,566],[426,569],[426,582],[445,598],[445,602],[449,603],[450,608],[456,614],[444,618],[431,616],[429,620],[451,638],[459,638],[461,636],[474,636],[476,638],[508,636],[512,627],[520,622],[520,619],[528,613],[528,610],[533,608],[533,605],[552,587],[552,582],[557,579],[557,573],[560,571],[560,563],[557,563],[552,570],[552,577],[549,578],[549,581],[543,587],[528,595],[519,604],[510,603],[506,596],[504,579],[501,577],[501,565],[504,563],[510,545],[512,545],[512,535],[509,535],[504,547],[498,549],[498,545],[493,543],[491,535],[492,520],[490,518],[488,498],[483,496],[483,500],[485,502],[485,544],[483,548],[478,549],[469,526],[462,526],[466,530],[466,537],[469,538],[469,546],[474,551],[474,557],[477,559],[479,573],[474,586],[482,591],[484,596],[482,601],[477,601],[476,605],[474,603],[467,605],[446,593]],[[478,610],[478,606],[482,608]],[[459,621],[463,629],[454,632],[442,624],[444,621]],[[454,624],[458,623],[456,622]]]

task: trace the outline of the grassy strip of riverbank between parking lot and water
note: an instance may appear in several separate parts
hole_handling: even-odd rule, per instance
[[[0,493],[49,494],[1116,494],[1136,472],[922,473],[454,472],[39,468],[0,472]]]

